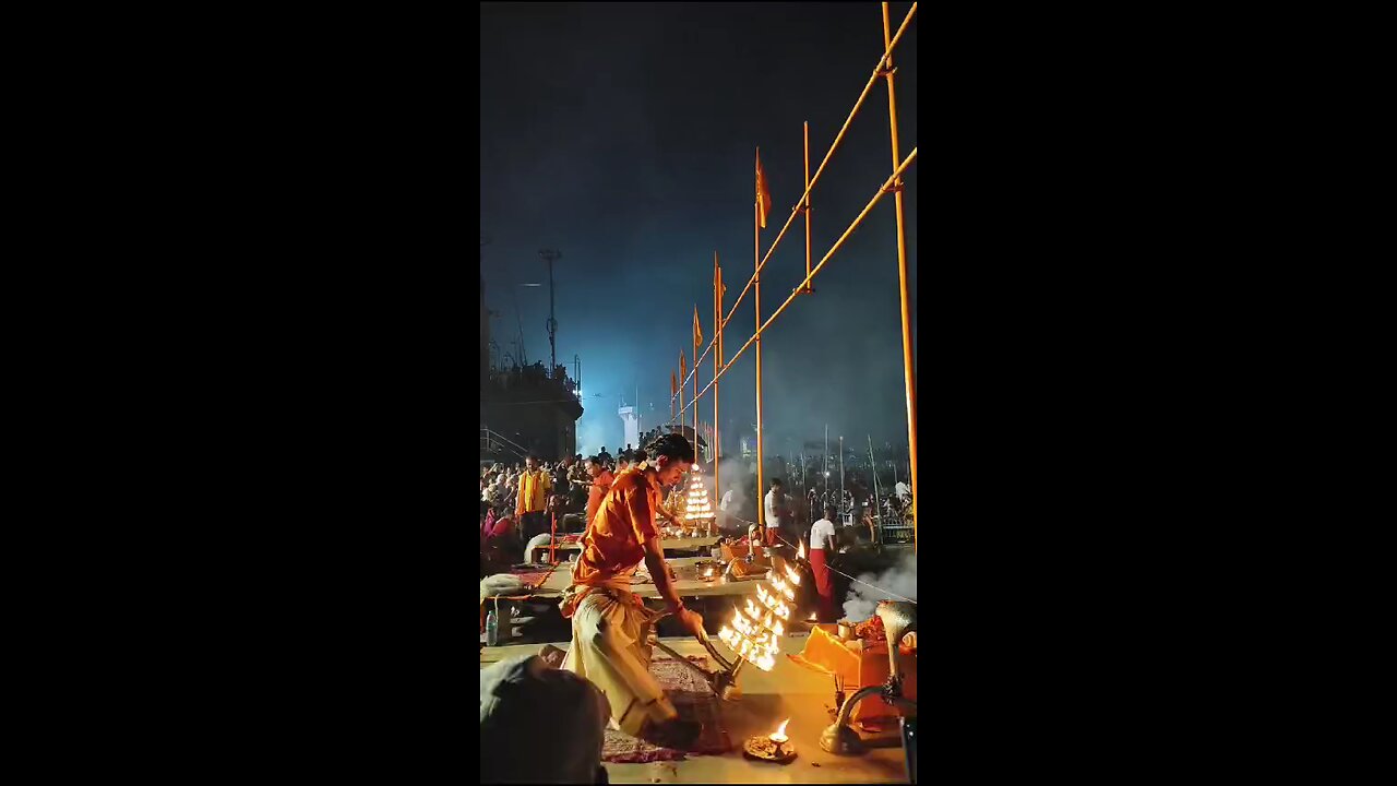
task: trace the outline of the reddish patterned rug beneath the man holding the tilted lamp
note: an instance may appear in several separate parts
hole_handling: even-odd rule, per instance
[[[689,656],[689,660],[705,671],[711,671],[708,659],[704,656]],[[643,764],[650,761],[678,761],[686,754],[718,755],[732,750],[728,730],[722,727],[722,713],[719,712],[718,696],[712,695],[703,677],[694,674],[692,669],[673,659],[659,659],[650,662],[650,673],[659,680],[659,687],[679,710],[679,717],[703,723],[703,734],[694,741],[693,750],[680,751],[675,748],[661,748],[644,740],[637,740],[624,731],[606,730],[606,744],[602,748],[602,761],[610,764]]]

